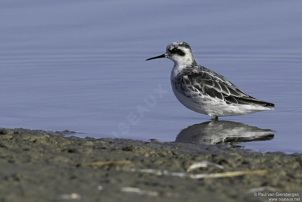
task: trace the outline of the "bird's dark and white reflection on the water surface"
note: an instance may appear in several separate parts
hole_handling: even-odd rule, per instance
[[[226,144],[236,148],[244,148],[244,146],[236,144],[271,140],[274,138],[275,132],[233,121],[206,121],[180,131],[175,142]]]

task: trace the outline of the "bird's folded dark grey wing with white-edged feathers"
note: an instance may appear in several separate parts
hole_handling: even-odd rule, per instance
[[[182,76],[182,84],[186,89],[198,90],[200,93],[218,98],[227,104],[255,104],[259,106],[271,106],[275,104],[255,99],[232,84],[225,77],[200,65],[195,66],[193,71],[186,72]]]

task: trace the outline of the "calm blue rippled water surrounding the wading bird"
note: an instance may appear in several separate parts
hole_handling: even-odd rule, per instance
[[[2,0],[0,127],[301,153],[301,7],[298,0]],[[188,42],[198,64],[278,111],[206,122],[175,98],[173,62],[145,61],[173,41]]]

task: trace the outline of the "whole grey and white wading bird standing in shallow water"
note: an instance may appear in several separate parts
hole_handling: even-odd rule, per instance
[[[215,71],[198,65],[191,47],[184,41],[170,43],[163,55],[174,62],[171,85],[178,101],[185,107],[212,119],[221,116],[251,114],[275,110],[275,104],[253,98]]]

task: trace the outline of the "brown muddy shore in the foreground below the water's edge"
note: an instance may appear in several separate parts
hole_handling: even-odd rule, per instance
[[[258,193],[300,195],[285,198],[302,194],[302,154],[263,154],[176,142],[83,139],[66,137],[68,131],[0,130],[0,202],[267,201],[268,196]],[[200,161],[214,166],[187,171]],[[196,177],[193,174],[254,170],[265,171],[192,178]]]

